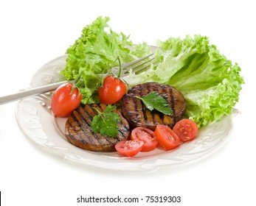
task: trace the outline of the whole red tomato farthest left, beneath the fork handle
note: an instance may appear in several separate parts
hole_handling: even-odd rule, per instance
[[[79,90],[72,90],[71,83],[65,83],[55,90],[52,96],[52,112],[56,117],[69,116],[75,110],[82,99]]]

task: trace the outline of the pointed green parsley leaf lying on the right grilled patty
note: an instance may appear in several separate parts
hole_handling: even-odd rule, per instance
[[[173,109],[168,107],[168,102],[166,99],[159,95],[159,93],[152,92],[148,93],[146,96],[137,98],[141,99],[148,110],[158,110],[160,113],[164,113],[165,115],[173,115]]]

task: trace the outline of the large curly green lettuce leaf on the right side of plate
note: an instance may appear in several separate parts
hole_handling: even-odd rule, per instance
[[[169,38],[158,45],[159,65],[138,75],[131,73],[125,77],[128,84],[159,82],[180,90],[187,101],[185,116],[198,127],[232,113],[244,83],[237,63],[232,64],[201,35]]]

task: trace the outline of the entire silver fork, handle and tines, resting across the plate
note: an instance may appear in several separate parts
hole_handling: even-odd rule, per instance
[[[127,75],[129,73],[130,70],[134,71],[135,74],[139,74],[139,72],[145,71],[147,70],[151,64],[155,64],[156,61],[154,60],[154,57],[151,57],[153,54],[148,54],[145,57],[142,57],[138,60],[134,60],[130,63],[125,63],[123,65],[121,65],[122,68],[122,72],[121,72],[121,76],[124,77],[125,75]],[[151,57],[151,58],[149,58]],[[147,58],[149,58],[148,60],[146,60]],[[145,61],[143,61],[145,60]],[[133,67],[131,67],[132,65],[134,65]],[[113,69],[119,69],[120,67],[114,67]],[[23,99],[23,98],[27,98],[30,96],[35,96],[41,93],[47,93],[47,92],[51,92],[53,90],[56,90],[60,85],[63,85],[64,83],[66,83],[67,81],[63,81],[63,82],[56,82],[50,85],[44,85],[38,88],[31,88],[28,90],[22,90],[18,93],[13,93],[7,96],[0,96],[0,105],[1,104],[6,104],[9,102],[13,102],[16,101],[18,99]]]

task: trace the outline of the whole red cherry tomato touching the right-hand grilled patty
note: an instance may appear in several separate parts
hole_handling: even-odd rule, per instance
[[[98,90],[100,103],[116,104],[126,93],[126,84],[121,79],[108,76]]]

